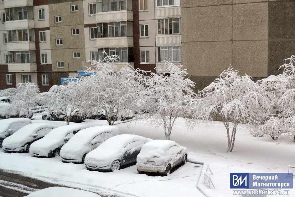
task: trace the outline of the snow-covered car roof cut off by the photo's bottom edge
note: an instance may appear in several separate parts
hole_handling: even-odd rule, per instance
[[[67,187],[48,187],[40,189],[29,195],[28,197],[101,197],[98,194],[84,191],[81,189],[73,189]]]

